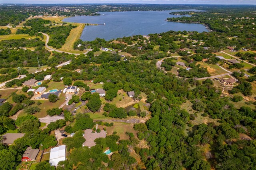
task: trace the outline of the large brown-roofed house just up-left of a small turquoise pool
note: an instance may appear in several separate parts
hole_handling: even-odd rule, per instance
[[[83,143],[83,146],[88,146],[89,148],[91,148],[92,146],[96,145],[96,143],[94,142],[96,138],[106,138],[106,131],[101,130],[99,133],[92,133],[92,129],[89,128],[84,130],[84,138],[85,142]]]

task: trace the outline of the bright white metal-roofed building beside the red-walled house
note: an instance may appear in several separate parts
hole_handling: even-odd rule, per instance
[[[49,163],[52,166],[57,166],[62,160],[66,160],[66,145],[60,145],[58,147],[52,148],[50,152]]]

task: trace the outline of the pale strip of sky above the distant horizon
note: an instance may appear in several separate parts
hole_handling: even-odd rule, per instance
[[[1,4],[89,4],[89,3],[140,3],[140,4],[252,4],[256,0],[0,0]]]

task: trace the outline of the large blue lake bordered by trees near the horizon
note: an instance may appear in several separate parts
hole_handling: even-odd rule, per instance
[[[169,14],[178,11],[198,10],[100,12],[100,16],[74,16],[64,18],[63,21],[90,24],[105,23],[105,25],[85,26],[80,38],[83,41],[92,41],[95,38],[111,40],[124,36],[148,35],[170,30],[208,31],[202,24],[165,21],[169,17],[180,17]]]

